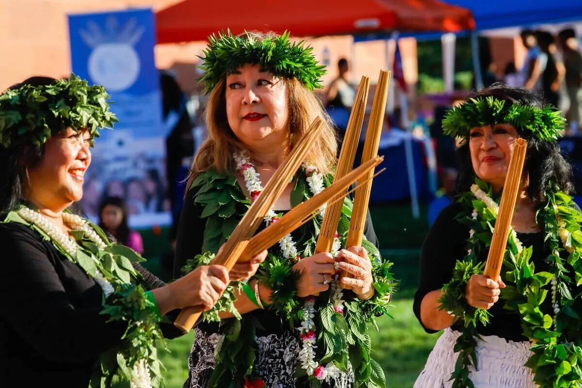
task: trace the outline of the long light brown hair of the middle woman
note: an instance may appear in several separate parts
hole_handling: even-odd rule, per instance
[[[252,35],[255,39],[261,40],[273,34],[253,33]],[[338,140],[331,119],[325,112],[320,99],[294,78],[285,78],[283,82],[288,101],[291,147],[297,143],[301,135],[306,133],[311,122],[320,116],[325,121],[324,129],[307,154],[306,162],[316,166],[322,173],[333,172],[336,165]],[[219,81],[210,93],[206,108],[206,124],[208,137],[200,145],[194,158],[187,188],[198,173],[209,168],[215,168],[222,174],[233,174],[235,163],[232,155],[246,149],[228,124],[225,78]]]

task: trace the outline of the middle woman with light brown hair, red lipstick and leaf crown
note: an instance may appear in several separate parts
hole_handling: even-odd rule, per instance
[[[311,51],[290,42],[288,33],[228,31],[210,38],[201,78],[210,92],[208,138],[192,166],[175,275],[217,252],[318,116],[325,120],[322,135],[264,225],[332,180],[336,134],[313,93],[324,66]],[[350,213],[347,200],[333,252],[314,253],[321,225],[315,216],[269,248],[257,276],[240,291],[229,287],[196,328],[184,387],[384,386],[366,325],[385,311],[389,264],[379,257],[369,215],[365,249],[340,250]],[[337,279],[337,268],[354,277]],[[383,284],[382,292],[372,282]]]

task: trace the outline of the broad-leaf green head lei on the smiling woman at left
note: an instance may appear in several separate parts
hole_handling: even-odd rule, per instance
[[[91,138],[118,119],[105,88],[71,74],[48,85],[23,85],[0,94],[0,147],[40,147],[67,127],[88,129]]]

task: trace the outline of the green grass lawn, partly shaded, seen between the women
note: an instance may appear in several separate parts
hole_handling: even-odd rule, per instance
[[[393,272],[400,281],[393,297],[393,319],[378,319],[378,332],[371,328],[372,357],[386,374],[387,388],[411,387],[437,341],[438,334],[427,334],[412,311],[418,279],[420,246],[428,230],[425,210],[422,218],[412,219],[407,205],[371,207],[374,229],[382,256],[394,262]],[[159,250],[158,250],[159,251]],[[149,267],[155,269],[155,261]],[[161,352],[166,366],[164,380],[168,388],[179,388],[187,377],[187,361],[194,333],[168,341],[171,353]]]

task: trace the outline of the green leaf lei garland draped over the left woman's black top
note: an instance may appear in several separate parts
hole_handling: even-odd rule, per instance
[[[34,208],[30,204],[29,208]],[[144,261],[139,254],[124,245],[111,244],[105,233],[93,223],[88,225],[107,245],[100,249],[83,230],[72,230],[70,234],[77,242],[76,257],[72,257],[60,244],[52,240],[41,227],[23,219],[17,212],[19,206],[8,213],[3,222],[17,222],[39,233],[42,239],[51,241],[56,250],[70,262],[79,265],[87,274],[100,272],[113,286],[113,293],[102,301],[101,314],[109,317],[108,322],[127,322],[127,329],[121,343],[101,354],[90,380],[91,388],[129,387],[136,384],[134,366],[147,365],[152,387],[164,386],[161,376],[163,365],[158,359],[157,348],[165,348],[164,337],[159,329],[161,317],[155,311],[154,303],[148,300],[143,286],[143,277],[132,263]],[[145,364],[144,364],[145,362]],[[139,369],[138,369],[139,370]],[[145,372],[147,373],[147,371]],[[140,385],[137,385],[140,386]]]

